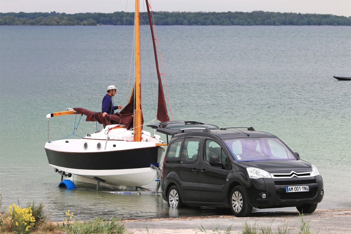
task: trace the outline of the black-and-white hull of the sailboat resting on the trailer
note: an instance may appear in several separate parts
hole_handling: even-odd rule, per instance
[[[160,141],[147,132],[143,142],[128,141],[125,128],[113,130],[107,141],[102,131],[82,139],[47,142],[49,165],[75,175],[73,180],[96,183],[95,177],[107,186],[135,187],[152,182],[157,172],[150,166],[157,166],[164,152],[163,146],[157,145]]]

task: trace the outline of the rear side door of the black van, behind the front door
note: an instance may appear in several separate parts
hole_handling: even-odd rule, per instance
[[[200,200],[200,138],[185,138],[180,157],[180,194],[184,201]]]

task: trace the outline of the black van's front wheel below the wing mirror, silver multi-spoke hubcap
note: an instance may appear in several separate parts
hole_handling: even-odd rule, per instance
[[[249,216],[252,212],[252,207],[249,204],[249,196],[245,188],[236,186],[230,193],[230,209],[233,215],[237,217]]]

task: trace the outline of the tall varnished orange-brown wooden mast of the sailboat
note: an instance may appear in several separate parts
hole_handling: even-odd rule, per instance
[[[135,110],[134,110],[134,141],[141,141],[141,89],[140,89],[140,19],[139,0],[135,0]]]

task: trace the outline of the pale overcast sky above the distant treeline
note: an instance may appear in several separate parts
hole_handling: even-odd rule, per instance
[[[143,0],[140,0],[143,2]],[[149,0],[152,11],[293,12],[351,16],[351,0]],[[0,0],[0,12],[134,12],[134,0]],[[144,11],[141,7],[140,11]],[[146,11],[146,8],[145,8]]]

